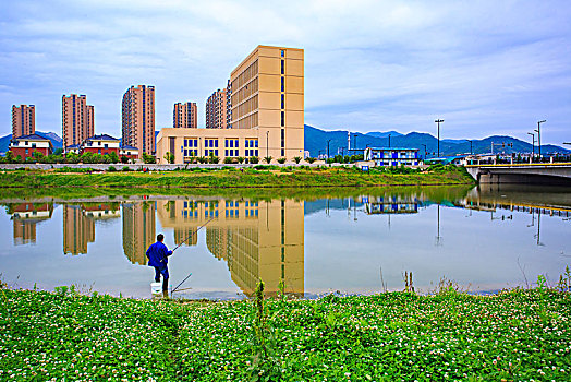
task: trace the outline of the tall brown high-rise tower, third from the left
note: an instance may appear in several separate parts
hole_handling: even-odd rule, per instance
[[[155,86],[131,86],[123,95],[123,146],[155,154]]]

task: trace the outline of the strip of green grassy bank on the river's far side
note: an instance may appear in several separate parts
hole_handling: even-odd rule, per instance
[[[406,172],[406,174],[405,174]],[[282,167],[192,169],[165,172],[62,172],[14,170],[0,174],[2,188],[148,187],[148,188],[283,188],[473,184],[465,169],[447,166],[430,171],[402,174],[344,167]]]

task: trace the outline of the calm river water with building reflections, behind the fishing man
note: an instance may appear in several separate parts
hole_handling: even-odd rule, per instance
[[[552,283],[571,265],[571,190],[494,187],[345,190],[296,199],[145,195],[2,198],[0,273],[12,287],[150,297],[145,250],[172,248],[177,296],[243,298],[258,278],[304,297],[402,289],[441,277],[473,291]],[[343,192],[345,194],[343,194]],[[195,229],[214,218],[197,234]]]

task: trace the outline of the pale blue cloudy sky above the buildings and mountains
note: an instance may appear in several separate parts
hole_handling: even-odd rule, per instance
[[[156,129],[205,104],[257,46],[305,51],[305,123],[441,139],[571,142],[570,1],[0,0],[0,135],[12,105],[61,135],[61,96],[121,136],[121,99],[156,86]]]

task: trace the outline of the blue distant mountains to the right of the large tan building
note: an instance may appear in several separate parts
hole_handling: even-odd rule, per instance
[[[317,157],[319,154],[327,154],[327,142],[329,141],[329,155],[336,155],[343,152],[347,155],[348,132],[347,130],[325,131],[312,126],[305,124],[305,150],[309,155]],[[351,148],[365,147],[388,147],[390,136],[391,147],[418,148],[424,156],[424,145],[428,152],[428,157],[434,157],[438,152],[438,140],[436,136],[427,133],[411,132],[401,134],[396,131],[388,132],[369,132],[366,134],[352,132]],[[356,135],[356,136],[355,136]],[[474,154],[486,154],[491,152],[491,143],[495,144],[494,153],[531,153],[532,144],[507,135],[493,135],[482,140],[472,141],[472,152]],[[509,147],[508,144],[513,144]],[[499,146],[498,146],[499,144]],[[503,147],[501,146],[503,144]],[[535,146],[537,152],[537,146]],[[547,144],[542,145],[542,154],[550,153],[571,153],[570,150]],[[440,140],[440,156],[470,154],[470,142],[467,140]]]

